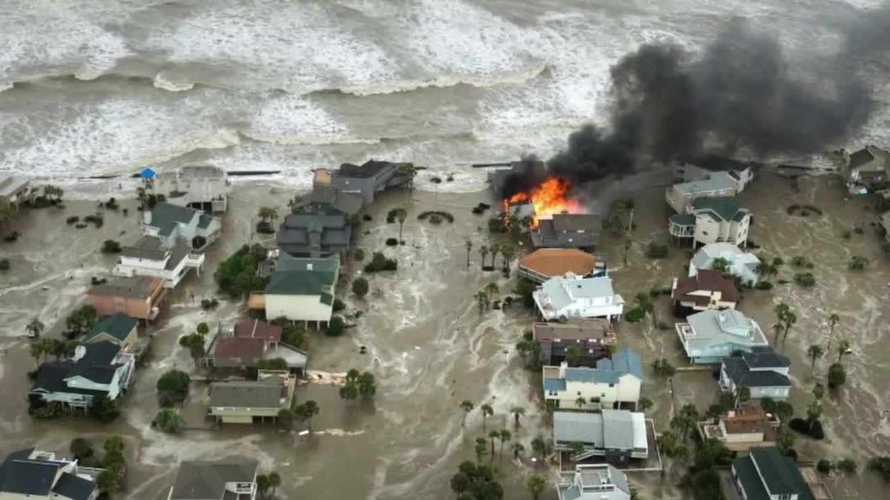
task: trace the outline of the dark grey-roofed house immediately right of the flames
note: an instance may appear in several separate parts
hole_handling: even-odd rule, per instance
[[[590,250],[599,243],[602,229],[600,214],[553,214],[538,219],[538,227],[531,230],[531,246]]]

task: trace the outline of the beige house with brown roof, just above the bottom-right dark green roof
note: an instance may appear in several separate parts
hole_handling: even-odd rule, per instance
[[[778,416],[747,405],[700,422],[698,428],[702,440],[716,439],[732,451],[748,452],[755,447],[774,446],[779,424]]]

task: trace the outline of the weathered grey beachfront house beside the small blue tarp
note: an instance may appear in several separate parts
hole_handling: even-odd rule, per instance
[[[158,173],[155,191],[167,203],[210,212],[225,212],[229,206],[229,175],[214,165],[186,165]]]

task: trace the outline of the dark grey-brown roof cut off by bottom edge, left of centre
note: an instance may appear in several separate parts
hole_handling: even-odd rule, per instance
[[[229,458],[219,462],[182,462],[176,472],[170,500],[223,498],[225,483],[253,482],[259,463],[252,458]]]

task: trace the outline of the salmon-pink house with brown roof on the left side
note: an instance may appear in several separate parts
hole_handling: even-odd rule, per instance
[[[158,317],[166,297],[164,278],[113,278],[90,288],[87,295],[100,318],[123,312],[149,322]]]

